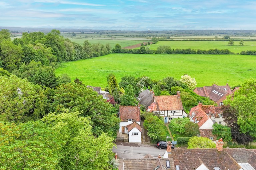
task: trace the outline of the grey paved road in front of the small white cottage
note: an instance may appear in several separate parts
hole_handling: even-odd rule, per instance
[[[148,144],[117,142],[116,147],[112,150],[117,152],[118,159],[143,158],[148,153],[157,158],[158,154],[163,156],[166,152],[166,149],[158,149],[155,145]]]

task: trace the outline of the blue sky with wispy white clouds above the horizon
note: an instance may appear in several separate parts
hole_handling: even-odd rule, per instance
[[[1,0],[0,26],[256,30],[255,0]]]

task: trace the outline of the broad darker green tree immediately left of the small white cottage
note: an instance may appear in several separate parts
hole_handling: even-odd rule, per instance
[[[63,109],[70,109],[72,112],[80,111],[81,116],[90,117],[93,134],[97,136],[102,132],[115,136],[119,128],[120,121],[117,118],[116,109],[92,88],[87,88],[83,84],[61,84],[56,89],[51,110],[61,113]]]

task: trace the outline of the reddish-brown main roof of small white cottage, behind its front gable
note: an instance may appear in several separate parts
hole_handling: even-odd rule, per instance
[[[121,122],[125,122],[128,119],[140,122],[140,108],[138,106],[119,106],[119,118]]]

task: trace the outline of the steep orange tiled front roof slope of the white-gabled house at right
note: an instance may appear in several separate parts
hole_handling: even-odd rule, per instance
[[[204,105],[204,106],[211,106],[211,105]],[[213,106],[213,107],[214,107],[214,106]],[[203,108],[203,106],[202,106],[202,108]],[[193,117],[192,119],[193,119],[193,121],[194,121],[195,123],[197,123],[197,122],[199,121],[199,122],[197,123],[199,128],[200,128],[206,121],[208,121],[208,119],[210,119],[209,116],[206,115],[206,113],[204,112],[204,110],[203,110],[202,108],[200,108],[199,105],[197,105],[197,106],[191,108],[191,110],[190,110],[190,112],[189,112],[190,117]],[[205,108],[207,108],[207,107],[205,107]],[[193,112],[195,113],[195,116],[192,115]],[[196,119],[197,119],[197,122],[196,122]],[[198,120],[198,119],[200,119],[200,120]]]

